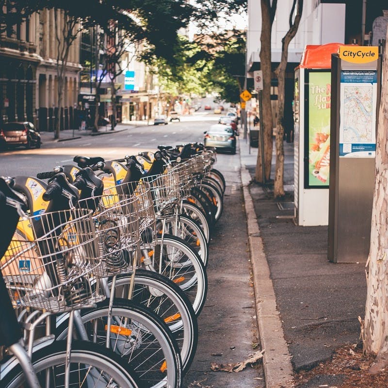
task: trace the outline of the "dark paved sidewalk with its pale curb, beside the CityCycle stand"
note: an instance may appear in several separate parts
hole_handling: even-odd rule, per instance
[[[364,264],[327,260],[327,226],[294,225],[293,144],[284,145],[286,199],[278,204],[272,187],[249,184],[255,174],[257,148],[251,148],[249,154],[248,144],[242,136],[240,139],[245,206],[249,208],[250,201],[254,206],[251,214],[247,211],[248,234],[251,256],[259,264],[255,296],[260,339],[266,350],[267,388],[292,387],[287,381],[292,371],[313,368],[341,345],[357,343],[357,317],[364,316],[366,298]],[[335,385],[332,376],[326,377],[321,380],[323,386]]]

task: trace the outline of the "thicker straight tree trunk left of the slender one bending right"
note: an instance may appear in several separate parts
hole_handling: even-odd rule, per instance
[[[272,21],[270,15],[269,0],[261,0],[261,35],[260,35],[260,68],[263,72],[263,90],[262,95],[262,122],[260,123],[260,130],[263,131],[264,137],[264,166],[265,177],[262,177],[261,168],[261,150],[259,147],[258,159],[256,162],[256,180],[265,183],[269,180],[271,175],[271,161],[272,161],[272,108],[271,108],[271,29]]]

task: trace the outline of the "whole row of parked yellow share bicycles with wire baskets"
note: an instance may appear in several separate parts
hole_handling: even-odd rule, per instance
[[[225,179],[201,144],[0,177],[0,386],[179,388]]]

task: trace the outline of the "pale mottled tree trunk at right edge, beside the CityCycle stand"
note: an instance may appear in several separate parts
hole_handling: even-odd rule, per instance
[[[388,41],[387,41],[388,42]],[[383,82],[376,139],[376,179],[373,196],[371,248],[367,275],[367,301],[363,325],[364,350],[377,355],[370,371],[388,367],[388,44],[383,62]]]

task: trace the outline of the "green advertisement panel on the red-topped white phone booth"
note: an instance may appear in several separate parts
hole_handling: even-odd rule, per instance
[[[306,70],[305,188],[328,188],[331,73]]]

